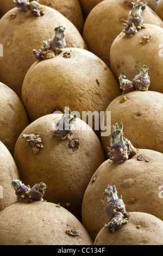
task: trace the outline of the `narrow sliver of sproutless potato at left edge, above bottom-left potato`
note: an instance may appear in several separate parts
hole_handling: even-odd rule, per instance
[[[11,187],[11,181],[19,179],[20,176],[12,155],[1,141],[0,159],[0,211],[2,211],[8,205],[17,201]]]

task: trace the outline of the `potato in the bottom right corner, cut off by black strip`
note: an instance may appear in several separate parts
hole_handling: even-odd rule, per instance
[[[159,218],[144,212],[129,214],[128,223],[115,233],[102,228],[93,245],[163,245],[163,222]]]

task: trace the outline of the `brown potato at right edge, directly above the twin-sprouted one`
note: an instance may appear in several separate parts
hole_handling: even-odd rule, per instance
[[[143,36],[150,35],[151,40],[146,44],[141,44]],[[163,72],[158,68],[163,63],[162,40],[163,29],[150,24],[147,24],[146,29],[141,29],[130,38],[127,38],[125,34],[118,35],[110,49],[111,70],[116,78],[118,79],[118,76],[123,74],[131,80],[143,65],[147,65],[151,78],[149,90],[162,93]]]

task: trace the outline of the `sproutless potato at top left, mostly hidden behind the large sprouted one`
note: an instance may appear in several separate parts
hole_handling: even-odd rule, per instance
[[[78,28],[80,33],[82,32],[84,26],[84,18],[78,0],[60,0],[59,2],[57,0],[40,0],[39,3],[59,11],[59,13],[64,15],[73,23],[74,26]],[[1,0],[0,10],[2,15],[7,13],[12,8],[15,8],[15,3],[13,0]]]

